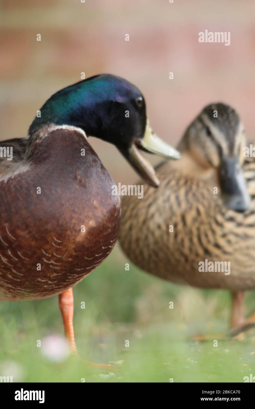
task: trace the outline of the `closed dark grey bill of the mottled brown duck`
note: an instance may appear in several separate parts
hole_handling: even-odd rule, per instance
[[[250,196],[238,157],[224,157],[219,171],[221,196],[228,209],[243,212],[250,205]]]

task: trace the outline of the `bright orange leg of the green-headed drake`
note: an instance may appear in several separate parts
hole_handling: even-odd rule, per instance
[[[74,297],[72,294],[72,288],[69,288],[69,290],[61,292],[61,294],[59,294],[59,308],[63,318],[65,336],[70,342],[72,353],[74,355],[77,355],[77,349],[74,339],[74,327],[72,323],[74,315]]]

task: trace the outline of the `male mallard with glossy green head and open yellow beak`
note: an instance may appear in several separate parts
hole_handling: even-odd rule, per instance
[[[64,88],[40,112],[28,138],[1,142],[0,300],[60,294],[65,334],[76,351],[72,286],[113,249],[121,209],[86,135],[114,144],[153,186],[158,179],[138,148],[169,157],[169,146],[149,128],[140,90],[114,75]]]

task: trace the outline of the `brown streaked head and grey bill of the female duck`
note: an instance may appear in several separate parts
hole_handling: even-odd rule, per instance
[[[239,115],[223,103],[206,106],[187,128],[178,148],[205,173],[214,170],[226,207],[245,211],[250,196],[242,171],[245,132]]]

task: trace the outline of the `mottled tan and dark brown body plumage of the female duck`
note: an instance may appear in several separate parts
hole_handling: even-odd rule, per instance
[[[212,193],[213,180],[183,176],[165,162],[160,187],[144,186],[144,198],[122,200],[120,243],[145,271],[201,288],[255,288],[255,162],[244,164],[253,196],[245,213],[226,209]],[[138,182],[138,184],[140,184]],[[169,232],[169,225],[174,231]],[[201,273],[199,261],[231,261],[231,273]]]

